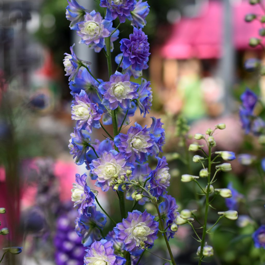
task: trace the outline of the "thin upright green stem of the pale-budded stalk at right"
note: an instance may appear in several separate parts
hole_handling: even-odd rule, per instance
[[[208,177],[207,177],[207,190],[206,190],[206,201],[205,201],[205,214],[204,214],[204,225],[202,231],[202,238],[201,238],[201,252],[199,257],[198,265],[201,265],[202,258],[203,258],[203,248],[205,245],[205,236],[206,236],[206,227],[207,227],[207,219],[208,219],[208,209],[209,209],[209,194],[210,194],[210,175],[211,175],[211,147],[209,146],[209,156],[208,156]]]

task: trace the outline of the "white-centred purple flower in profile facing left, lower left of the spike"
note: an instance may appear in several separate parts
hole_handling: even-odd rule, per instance
[[[86,184],[87,175],[84,173],[82,176],[76,174],[76,183],[73,183],[72,201],[74,201],[74,207],[77,207],[80,215],[85,214],[89,216],[90,213],[87,211],[88,206],[94,205],[95,195],[90,191],[89,186]]]

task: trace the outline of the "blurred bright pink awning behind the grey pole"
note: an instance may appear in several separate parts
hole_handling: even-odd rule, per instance
[[[259,21],[245,22],[249,13],[260,13],[259,6],[247,2],[232,10],[233,41],[237,49],[248,49],[250,37],[258,37]],[[173,25],[171,34],[161,48],[162,57],[168,59],[219,58],[222,55],[223,4],[209,1],[196,18],[183,18]]]

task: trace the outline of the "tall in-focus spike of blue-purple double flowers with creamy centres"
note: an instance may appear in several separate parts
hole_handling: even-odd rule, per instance
[[[161,220],[167,238],[172,238],[176,230],[171,231],[170,227],[176,223],[178,206],[175,199],[167,195],[169,167],[166,158],[159,157],[165,143],[163,123],[152,117],[150,127],[135,123],[127,133],[120,132],[123,125],[130,123],[129,117],[137,108],[145,118],[152,106],[151,83],[144,78],[140,84],[130,81],[131,76],[138,78],[142,70],[148,68],[149,43],[143,27],[149,6],[142,0],[101,0],[100,6],[105,8],[106,14],[103,18],[99,12],[86,10],[75,0],[68,0],[68,4],[66,17],[71,21],[70,28],[80,36],[80,43],[95,52],[104,49],[107,59],[119,35],[118,27],[113,28],[113,20],[118,18],[124,23],[127,19],[133,26],[129,38],[121,39],[121,54],[115,58],[121,70],[110,75],[107,81],[94,77],[90,63],[77,58],[73,46],[71,54],[65,56],[66,76],[69,76],[70,93],[74,97],[72,120],[76,121],[68,145],[70,153],[77,165],[86,164],[90,178],[96,180],[95,185],[104,192],[112,188],[119,196],[126,193],[127,199],[139,204],[163,198]],[[113,134],[104,128],[110,124]],[[90,134],[101,127],[108,138],[92,142]],[[157,160],[154,169],[149,167],[150,157]],[[157,238],[158,222],[147,211],[129,212],[110,232],[111,238],[103,239],[106,216],[96,210],[98,193],[90,189],[87,178],[86,173],[76,174],[72,189],[72,201],[79,213],[76,232],[87,247],[84,263],[122,265],[126,262],[126,253],[136,256],[143,249],[151,248]]]

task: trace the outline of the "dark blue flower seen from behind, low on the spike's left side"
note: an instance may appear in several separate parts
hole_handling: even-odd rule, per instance
[[[82,244],[87,247],[95,240],[100,240],[102,235],[99,229],[106,224],[106,215],[96,210],[96,206],[87,207],[87,216],[81,215],[76,219],[76,233],[82,237]]]

